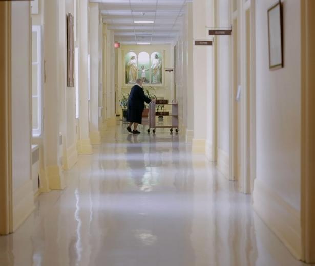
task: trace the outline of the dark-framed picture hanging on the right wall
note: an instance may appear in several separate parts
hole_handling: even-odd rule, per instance
[[[283,68],[281,2],[268,9],[269,69]]]

